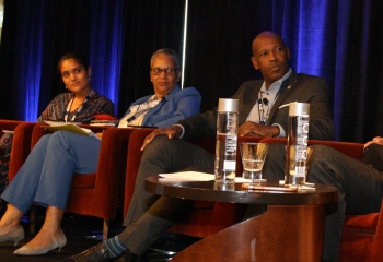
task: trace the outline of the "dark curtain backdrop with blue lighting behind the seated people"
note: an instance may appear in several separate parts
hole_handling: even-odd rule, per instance
[[[324,78],[334,99],[336,140],[383,134],[383,1],[189,0],[185,86],[202,110],[260,78],[251,44],[263,31],[282,35],[298,72]],[[151,53],[181,53],[184,1],[7,0],[0,49],[0,117],[34,121],[65,92],[56,63],[68,50],[89,56],[92,86],[116,104],[152,94]]]

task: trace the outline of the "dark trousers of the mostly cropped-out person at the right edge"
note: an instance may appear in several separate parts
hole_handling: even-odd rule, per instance
[[[283,179],[286,144],[272,144],[264,165],[265,178]],[[337,261],[346,215],[379,212],[382,202],[382,172],[332,147],[314,145],[307,181],[338,189],[337,210],[325,217],[323,259]]]

